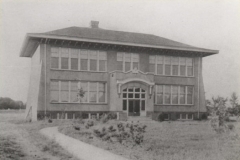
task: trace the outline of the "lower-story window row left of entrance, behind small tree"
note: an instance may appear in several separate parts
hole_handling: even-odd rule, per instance
[[[79,89],[84,91],[82,98]],[[50,97],[51,103],[106,103],[106,83],[51,80]]]

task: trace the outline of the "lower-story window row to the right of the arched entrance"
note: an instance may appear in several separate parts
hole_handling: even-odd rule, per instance
[[[167,105],[192,105],[193,86],[183,85],[156,85],[155,103]]]

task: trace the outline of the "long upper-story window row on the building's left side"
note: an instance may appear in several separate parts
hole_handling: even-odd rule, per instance
[[[51,68],[106,72],[107,53],[97,50],[52,47]]]

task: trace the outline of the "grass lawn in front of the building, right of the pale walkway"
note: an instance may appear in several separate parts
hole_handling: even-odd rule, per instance
[[[240,139],[236,129],[218,134],[209,121],[140,122],[147,125],[141,145],[122,145],[117,141],[103,141],[93,130],[108,127],[119,122],[105,124],[95,122],[90,129],[80,124],[80,130],[73,125],[62,125],[60,132],[86,143],[109,150],[129,159],[139,160],[239,160]],[[131,123],[131,122],[130,122]],[[137,122],[135,122],[137,123]]]

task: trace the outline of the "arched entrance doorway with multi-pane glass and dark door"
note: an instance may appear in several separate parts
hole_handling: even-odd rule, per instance
[[[138,87],[125,88],[123,90],[123,111],[128,116],[146,115],[145,112],[146,91]]]

